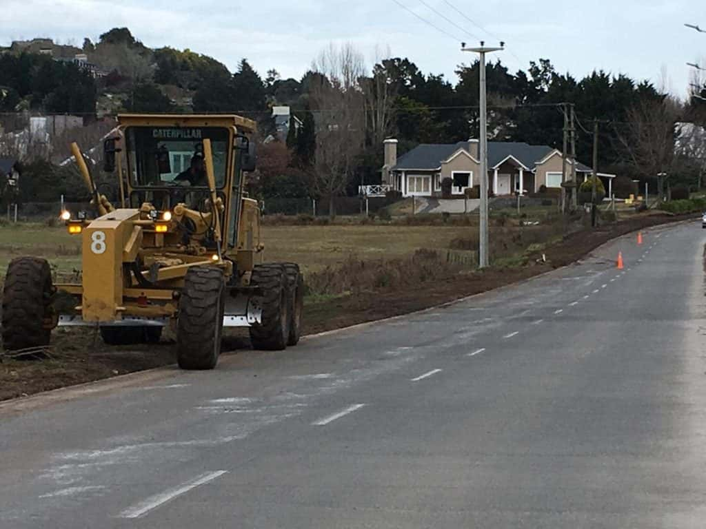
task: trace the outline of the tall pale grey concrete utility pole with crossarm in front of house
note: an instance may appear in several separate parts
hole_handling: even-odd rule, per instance
[[[488,124],[486,116],[486,71],[485,71],[485,55],[493,51],[502,51],[505,48],[505,43],[501,42],[500,47],[486,47],[485,42],[481,40],[480,47],[467,48],[466,43],[461,43],[461,51],[472,51],[480,56],[480,121],[481,130],[479,138],[479,156],[481,162],[481,207],[480,207],[480,233],[478,237],[478,267],[485,268],[489,265],[489,248],[488,248]]]

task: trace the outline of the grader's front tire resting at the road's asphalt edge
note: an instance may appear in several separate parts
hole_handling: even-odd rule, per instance
[[[177,362],[181,369],[213,369],[220,355],[225,309],[223,271],[193,267],[179,298]]]

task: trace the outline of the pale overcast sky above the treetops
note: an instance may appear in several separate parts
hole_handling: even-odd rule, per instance
[[[80,46],[83,37],[127,26],[149,47],[189,48],[231,70],[246,57],[263,77],[276,68],[299,78],[328,43],[352,42],[369,63],[376,48],[390,49],[455,82],[455,66],[472,60],[459,51],[461,40],[501,37],[507,50],[497,55],[513,73],[539,57],[577,77],[603,68],[655,85],[666,70],[669,89],[680,97],[689,82],[686,62],[706,66],[706,33],[683,25],[706,28],[703,0],[397,1],[443,32],[395,0],[1,0],[0,44],[52,37]]]

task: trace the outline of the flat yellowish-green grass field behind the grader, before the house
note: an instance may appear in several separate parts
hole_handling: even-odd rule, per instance
[[[265,260],[299,262],[305,273],[338,265],[350,255],[363,260],[402,257],[417,248],[448,248],[454,238],[472,236],[472,226],[328,225],[263,226]],[[0,274],[13,257],[36,255],[60,274],[80,268],[80,240],[64,226],[0,226]]]

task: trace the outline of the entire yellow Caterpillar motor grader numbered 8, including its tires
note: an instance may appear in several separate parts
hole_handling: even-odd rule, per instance
[[[301,272],[294,263],[263,263],[258,202],[244,193],[255,123],[136,114],[118,123],[104,142],[117,205],[71,146],[95,209],[61,214],[82,242],[80,283],[54,284],[44,259],[13,260],[2,301],[5,348],[45,346],[57,326],[97,327],[110,344],[149,343],[170,325],[179,365],[212,369],[223,327],[248,327],[256,349],[295,345]]]

